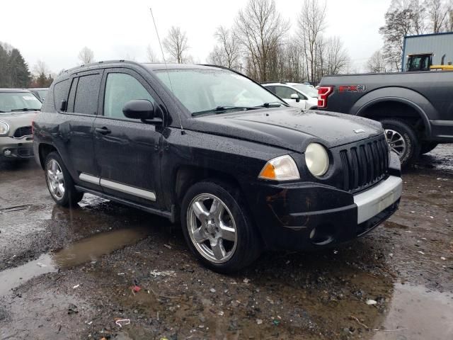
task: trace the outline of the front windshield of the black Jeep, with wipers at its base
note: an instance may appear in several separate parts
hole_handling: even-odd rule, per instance
[[[265,103],[273,103],[265,107],[275,107],[276,103],[285,106],[250,79],[224,69],[170,69],[168,74],[166,70],[156,71],[156,74],[191,113],[225,111],[219,108],[240,111]]]

